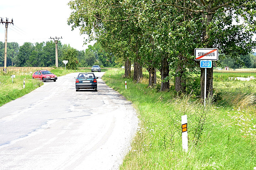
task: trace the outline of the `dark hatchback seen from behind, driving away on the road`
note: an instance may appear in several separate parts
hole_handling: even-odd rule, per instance
[[[79,89],[94,89],[97,90],[97,79],[93,72],[79,73],[76,79],[76,91]]]

